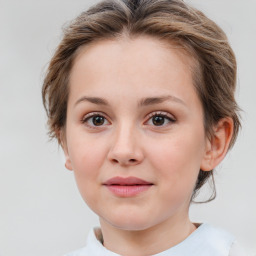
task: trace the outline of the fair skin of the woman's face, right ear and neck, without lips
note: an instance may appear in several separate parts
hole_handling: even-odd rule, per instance
[[[150,37],[99,41],[75,59],[62,131],[66,167],[99,216],[104,246],[121,255],[156,254],[189,236],[199,170],[213,169],[227,152],[232,121],[222,119],[206,137],[192,62]],[[95,125],[93,115],[103,123]],[[103,185],[116,176],[153,185],[119,197]]]

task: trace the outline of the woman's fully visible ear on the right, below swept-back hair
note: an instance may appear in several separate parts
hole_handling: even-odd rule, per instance
[[[213,170],[225,157],[233,134],[233,120],[222,118],[213,128],[211,138],[207,139],[205,154],[200,166],[202,171]]]

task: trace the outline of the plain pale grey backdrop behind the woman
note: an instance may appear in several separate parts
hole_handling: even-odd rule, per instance
[[[58,256],[84,246],[97,217],[49,142],[41,85],[61,28],[96,1],[0,0],[0,255]],[[256,1],[190,0],[227,33],[238,60],[243,129],[217,168],[217,199],[191,219],[234,233],[256,255]]]

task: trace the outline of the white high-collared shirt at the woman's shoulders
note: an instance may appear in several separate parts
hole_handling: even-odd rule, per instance
[[[91,230],[86,246],[65,256],[120,256],[106,249],[101,243],[99,228]],[[152,256],[245,256],[233,235],[201,224],[190,236],[176,246]]]

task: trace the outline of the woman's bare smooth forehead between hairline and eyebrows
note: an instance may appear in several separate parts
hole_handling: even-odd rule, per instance
[[[100,40],[79,49],[70,74],[70,96],[85,90],[128,95],[132,90],[133,94],[152,94],[144,95],[150,97],[171,90],[186,98],[185,87],[192,93],[195,90],[193,63],[177,44],[153,37]]]

